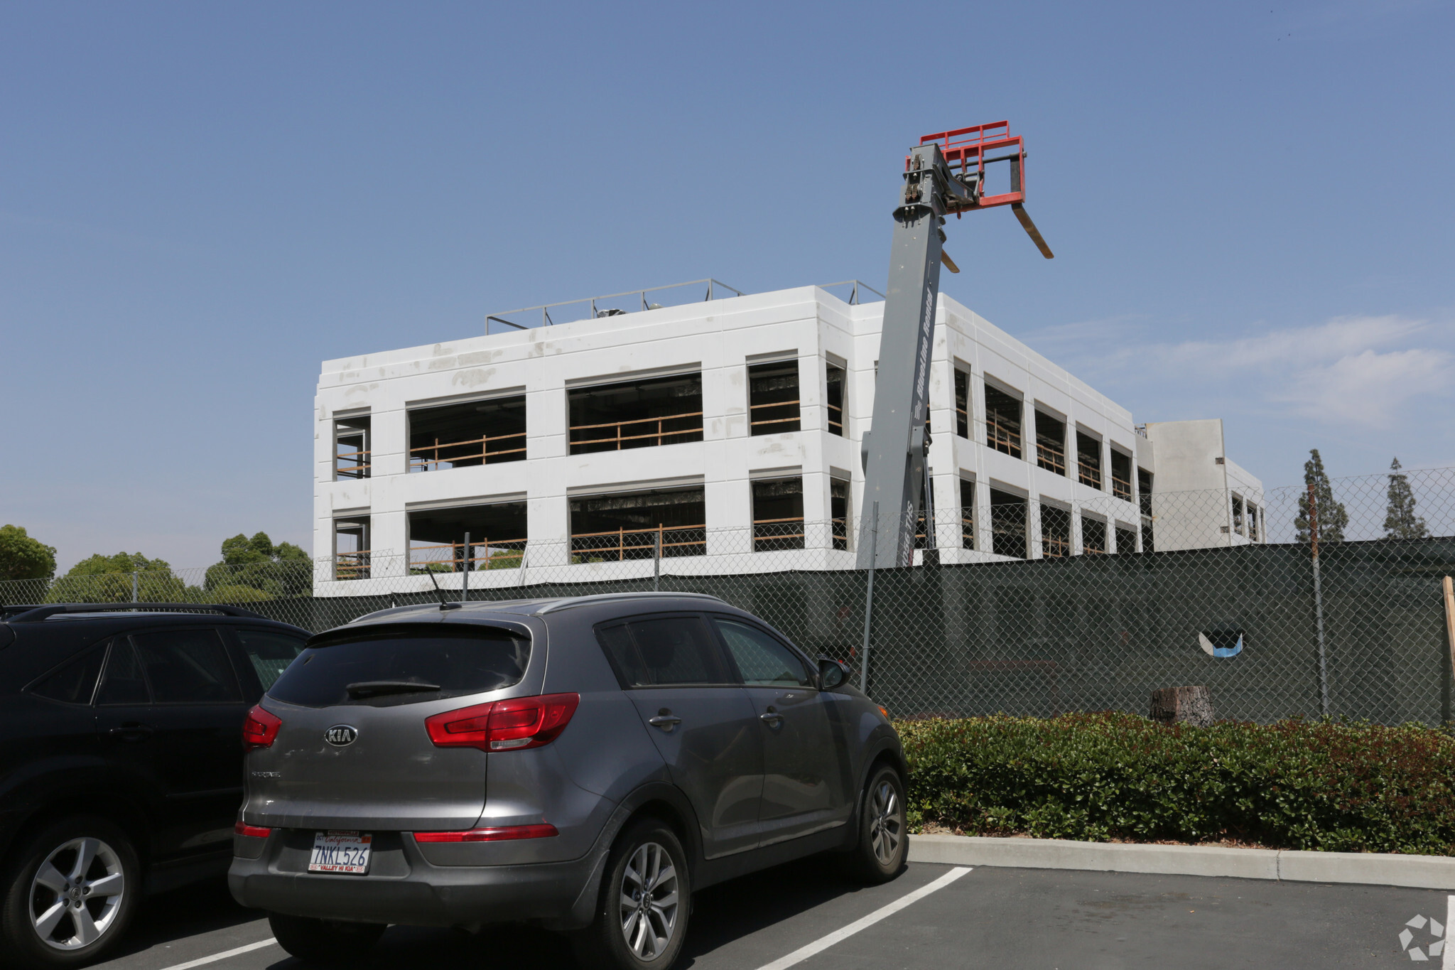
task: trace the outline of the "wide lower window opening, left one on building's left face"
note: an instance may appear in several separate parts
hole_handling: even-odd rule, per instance
[[[409,572],[413,574],[518,569],[524,560],[524,502],[409,513]]]

